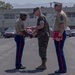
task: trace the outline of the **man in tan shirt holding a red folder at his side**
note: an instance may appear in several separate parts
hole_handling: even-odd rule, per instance
[[[65,28],[67,26],[67,16],[65,12],[62,10],[62,3],[55,2],[54,9],[57,11],[57,14],[54,25],[53,39],[59,66],[59,70],[55,71],[55,73],[66,73],[67,67],[63,48],[66,40]]]

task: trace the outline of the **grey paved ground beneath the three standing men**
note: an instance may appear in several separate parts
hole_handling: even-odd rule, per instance
[[[23,53],[23,65],[25,70],[15,70],[15,42],[13,38],[0,38],[0,75],[61,75],[55,74],[58,69],[57,58],[52,38],[49,40],[47,49],[47,69],[37,71],[35,67],[41,64],[38,55],[37,39],[26,38]],[[67,38],[64,47],[65,58],[68,72],[62,75],[75,75],[75,37]]]

